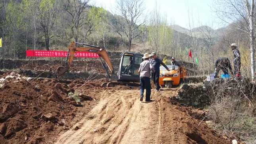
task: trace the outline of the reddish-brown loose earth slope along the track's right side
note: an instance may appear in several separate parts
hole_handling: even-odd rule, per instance
[[[230,143],[223,136],[217,134],[216,131],[210,129],[205,123],[198,126],[200,121],[194,119],[186,113],[181,106],[170,106],[169,100],[162,98],[160,100],[162,109],[162,123],[164,131],[161,132],[163,143],[166,138],[168,142],[181,144],[227,144]]]

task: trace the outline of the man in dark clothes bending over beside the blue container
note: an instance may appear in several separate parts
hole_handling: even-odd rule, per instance
[[[233,75],[229,58],[218,58],[215,62],[215,68],[215,77],[217,77],[220,70],[222,70],[225,75],[229,74],[228,71]]]

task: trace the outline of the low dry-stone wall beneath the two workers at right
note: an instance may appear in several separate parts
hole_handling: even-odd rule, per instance
[[[235,79],[214,79],[198,84],[183,84],[177,92],[177,100],[188,106],[204,106],[210,103],[211,97],[225,96],[230,94],[250,98],[255,86],[248,79],[236,81]]]

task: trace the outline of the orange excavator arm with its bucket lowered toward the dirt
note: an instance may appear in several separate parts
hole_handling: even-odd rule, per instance
[[[77,47],[76,42],[71,42],[68,47],[68,53],[67,53],[67,63],[66,66],[60,66],[57,69],[58,76],[63,75],[66,71],[69,70],[69,67],[74,59],[75,52],[91,52],[98,54],[101,58],[103,58],[104,61],[106,61],[106,64],[108,65],[108,69],[110,70],[110,73],[113,73],[113,65],[110,61],[110,58],[108,57],[108,53],[104,48],[98,47],[98,46],[92,46],[89,44],[83,44],[86,47]]]

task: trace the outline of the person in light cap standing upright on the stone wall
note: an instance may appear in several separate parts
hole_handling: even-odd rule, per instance
[[[233,64],[234,64],[234,75],[236,77],[241,77],[241,58],[240,58],[240,52],[237,48],[237,44],[231,44],[231,49],[233,50],[233,54],[234,54],[234,60],[233,60]]]

